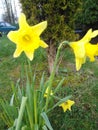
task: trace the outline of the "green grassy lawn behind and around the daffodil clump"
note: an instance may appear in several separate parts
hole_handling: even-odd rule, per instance
[[[15,44],[10,42],[6,36],[0,37],[0,97],[6,100],[9,100],[12,94],[11,82],[16,82],[20,78],[21,64],[26,61],[24,54],[14,59],[14,50]],[[87,61],[82,69],[76,72],[73,52],[67,48],[64,53],[59,75],[55,77],[53,87],[65,77],[63,86],[57,95],[60,97],[73,95],[75,105],[71,112],[67,111],[66,113],[60,107],[55,108],[50,113],[51,124],[54,130],[97,130],[98,60],[94,63]],[[40,48],[36,51],[32,67],[34,71],[36,69],[37,81],[43,71],[47,74],[46,53],[43,49]],[[5,130],[1,118],[0,129]]]

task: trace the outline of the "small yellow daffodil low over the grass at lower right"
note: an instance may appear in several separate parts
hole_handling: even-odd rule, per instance
[[[66,112],[67,109],[71,111],[71,106],[72,106],[74,103],[75,103],[75,102],[72,101],[72,100],[67,100],[66,102],[60,104],[59,106],[61,106],[61,107],[63,108],[64,112]]]

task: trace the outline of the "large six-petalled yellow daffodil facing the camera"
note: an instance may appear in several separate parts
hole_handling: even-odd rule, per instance
[[[29,26],[26,22],[25,15],[21,13],[19,17],[19,30],[8,33],[8,38],[16,44],[14,57],[18,57],[24,51],[26,56],[32,60],[34,51],[38,47],[48,47],[48,45],[40,39],[40,35],[46,27],[47,21],[35,26]]]

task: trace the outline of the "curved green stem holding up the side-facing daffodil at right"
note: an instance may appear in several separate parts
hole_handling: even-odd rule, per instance
[[[53,70],[52,70],[52,73],[51,73],[50,78],[49,78],[48,94],[47,94],[47,98],[46,98],[45,112],[48,109],[48,104],[49,104],[49,100],[50,100],[49,96],[50,96],[50,93],[51,93],[52,83],[53,83],[54,76],[55,76],[56,65],[57,65],[57,62],[58,62],[58,58],[59,58],[59,54],[60,54],[60,49],[61,49],[61,47],[62,47],[63,44],[68,44],[68,43],[69,43],[68,41],[64,41],[58,47],[58,51],[57,51],[57,54],[56,54],[56,58],[55,58]]]

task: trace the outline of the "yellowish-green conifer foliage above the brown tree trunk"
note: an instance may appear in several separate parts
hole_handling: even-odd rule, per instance
[[[75,39],[74,21],[81,0],[20,0],[30,24],[48,21],[44,33],[47,43]]]

